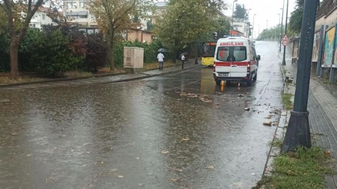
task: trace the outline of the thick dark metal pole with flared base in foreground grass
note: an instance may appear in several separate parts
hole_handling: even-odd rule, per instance
[[[304,1],[301,44],[297,67],[294,109],[281,147],[281,152],[293,151],[298,146],[311,147],[310,129],[307,111],[311,55],[316,20],[317,2]]]

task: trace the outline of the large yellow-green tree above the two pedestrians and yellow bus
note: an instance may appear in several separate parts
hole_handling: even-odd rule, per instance
[[[222,0],[171,0],[162,18],[156,20],[154,33],[172,48],[175,57],[186,43],[214,31],[215,10],[224,8]]]

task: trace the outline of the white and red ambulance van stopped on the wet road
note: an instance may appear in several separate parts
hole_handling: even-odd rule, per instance
[[[221,81],[245,82],[251,86],[257,78],[257,66],[261,57],[256,56],[255,43],[245,37],[228,37],[218,40],[213,65],[213,77],[217,85]]]

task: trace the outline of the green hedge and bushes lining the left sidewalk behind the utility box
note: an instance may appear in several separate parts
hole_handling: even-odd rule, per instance
[[[109,66],[106,41],[99,34],[86,36],[76,32],[69,33],[67,28],[43,27],[28,29],[18,53],[19,70],[43,75],[58,75],[71,70],[96,72],[98,68]],[[0,72],[9,72],[9,35],[0,34]],[[144,63],[157,61],[158,49],[163,48],[160,41],[152,43],[123,42],[114,47],[116,67],[123,67],[124,47],[144,48]],[[98,58],[99,57],[99,58]],[[170,57],[165,54],[166,59]]]

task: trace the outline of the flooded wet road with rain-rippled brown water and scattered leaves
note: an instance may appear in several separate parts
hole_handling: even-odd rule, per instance
[[[212,68],[132,82],[0,89],[1,188],[250,188],[281,109],[276,42],[256,42],[257,82]],[[238,97],[243,94],[243,97]],[[250,111],[245,108],[249,107]]]

